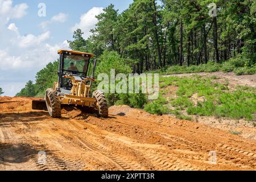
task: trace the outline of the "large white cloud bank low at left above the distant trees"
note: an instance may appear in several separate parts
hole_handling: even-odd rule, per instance
[[[12,44],[6,42],[6,48],[0,49],[0,72],[3,75],[0,76],[0,87],[6,96],[15,96],[28,80],[34,80],[36,72],[59,58],[58,49],[68,49],[68,42],[65,40],[53,46],[46,43],[50,37],[49,31],[38,36],[19,36],[14,23],[6,30],[16,34],[9,36]]]

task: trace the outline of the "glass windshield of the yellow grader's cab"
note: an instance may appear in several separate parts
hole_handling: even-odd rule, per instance
[[[64,55],[63,70],[75,75],[86,76],[90,57],[79,55]]]

